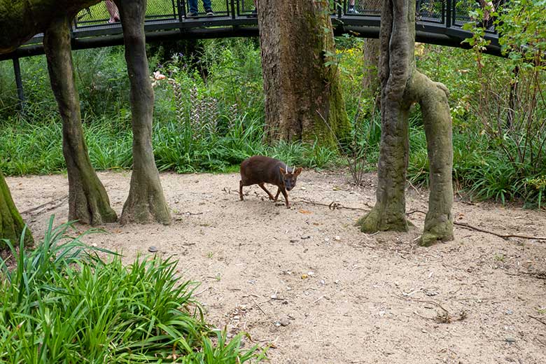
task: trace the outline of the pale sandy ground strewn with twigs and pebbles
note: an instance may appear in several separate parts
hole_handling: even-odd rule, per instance
[[[99,177],[120,214],[130,174]],[[546,363],[546,276],[536,275],[546,272],[546,241],[457,227],[455,241],[421,248],[420,213],[409,215],[416,228],[407,233],[364,235],[353,226],[363,211],[286,209],[257,186],[239,202],[236,174],[161,178],[172,225],[109,224],[109,234],[86,241],[123,251],[127,262],[149,246],[175,255],[183,277],[202,282],[197,297],[209,321],[274,344],[271,363]],[[346,175],[304,171],[290,197],[368,209],[375,176],[367,180],[357,189]],[[7,181],[20,211],[68,190],[62,175]],[[409,189],[408,211],[426,211],[426,197]],[[25,216],[40,237],[49,215],[60,223],[67,209],[61,200]],[[454,216],[503,234],[546,236],[543,211],[456,202]],[[446,314],[451,323],[441,322]]]

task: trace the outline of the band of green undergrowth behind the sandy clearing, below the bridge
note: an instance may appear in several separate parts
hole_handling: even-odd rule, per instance
[[[546,29],[542,26],[546,17],[540,18],[544,12],[540,1],[510,3],[526,8],[493,14],[496,27],[504,27],[501,42],[509,57],[417,43],[416,62],[423,73],[451,92],[456,187],[472,198],[544,206],[546,191],[539,181],[546,175],[542,94],[546,76],[540,68],[543,59],[536,62],[533,55],[537,55],[535,49],[544,49],[540,39],[545,38],[541,31]],[[471,9],[475,20],[483,16],[475,2],[457,6]],[[500,24],[502,14],[506,15]],[[478,25],[476,21],[468,27],[475,29],[475,45],[481,46],[479,34],[486,30]],[[361,167],[371,171],[379,155],[381,123],[375,100],[362,90],[362,76],[368,71],[362,48],[361,39],[343,36],[337,39],[336,55],[331,58],[341,70],[346,111],[353,125],[351,146],[342,152],[349,153],[349,166],[350,160],[365,160]],[[231,171],[253,154],[313,168],[347,163],[338,151],[316,143],[262,143],[264,99],[255,39],[200,41],[198,49],[197,59],[179,53],[160,63],[160,57],[151,57],[151,74],[159,71],[166,76],[155,80],[153,143],[161,170]],[[123,52],[104,48],[73,53],[92,163],[97,169],[129,169],[132,134]],[[16,110],[10,64],[0,63],[0,73],[8,75],[0,78],[0,169],[7,175],[62,172],[61,129],[45,61],[43,57],[22,59],[22,69],[28,97],[24,113]],[[517,97],[510,106],[510,85],[514,84]],[[408,179],[426,185],[428,160],[419,107],[412,111],[409,138]]]

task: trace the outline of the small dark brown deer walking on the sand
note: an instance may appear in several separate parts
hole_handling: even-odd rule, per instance
[[[257,184],[269,195],[269,200],[276,201],[279,193],[283,193],[286,208],[290,209],[288,193],[286,191],[295,187],[297,176],[302,173],[302,167],[286,167],[286,163],[274,158],[254,155],[241,163],[241,181],[239,182],[239,197],[243,201],[243,186]],[[273,197],[265,188],[265,183],[277,186],[276,195]]]

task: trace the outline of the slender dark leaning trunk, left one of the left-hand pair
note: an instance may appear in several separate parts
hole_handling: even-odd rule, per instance
[[[69,24],[66,16],[57,18],[43,37],[51,87],[62,118],[62,151],[69,178],[69,219],[91,225],[111,223],[118,216],[94,172],[83,138]]]

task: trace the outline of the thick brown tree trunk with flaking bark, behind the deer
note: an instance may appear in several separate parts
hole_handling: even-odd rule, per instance
[[[328,2],[260,0],[258,25],[268,139],[349,137]]]

